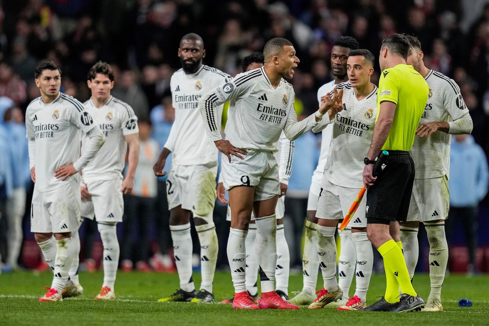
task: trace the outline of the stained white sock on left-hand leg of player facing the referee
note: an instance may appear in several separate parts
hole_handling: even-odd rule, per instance
[[[317,225],[317,255],[319,267],[323,274],[324,288],[328,292],[336,291],[336,242],[334,232],[336,227]]]

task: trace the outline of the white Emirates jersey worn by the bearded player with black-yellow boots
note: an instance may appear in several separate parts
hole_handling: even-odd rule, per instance
[[[199,99],[210,89],[221,86],[231,76],[221,70],[202,65],[193,74],[177,70],[170,80],[172,103],[175,108],[167,149],[172,152],[172,162],[178,165],[203,165],[217,162],[217,148],[207,141],[205,128],[200,116]],[[217,107],[216,124],[221,130],[222,105]]]

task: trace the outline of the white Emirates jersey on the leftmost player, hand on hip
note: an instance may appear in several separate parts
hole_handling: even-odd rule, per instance
[[[80,157],[80,130],[87,133],[97,125],[83,104],[60,92],[49,104],[41,97],[32,101],[25,112],[25,126],[27,139],[35,142],[35,187],[42,193],[66,184],[54,177],[54,171]],[[70,179],[79,181],[80,174]]]

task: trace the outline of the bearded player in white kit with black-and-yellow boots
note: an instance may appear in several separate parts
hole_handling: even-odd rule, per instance
[[[202,38],[197,34],[190,33],[182,37],[178,57],[182,69],[177,70],[170,80],[175,122],[154,171],[158,176],[166,174],[161,171],[166,158],[173,152],[166,189],[180,288],[169,297],[158,301],[212,303],[212,283],[218,254],[218,239],[213,221],[218,152],[213,144],[207,142],[198,101],[209,89],[224,84],[231,76],[202,64],[205,49]],[[222,106],[216,110],[216,123],[220,125]],[[190,215],[194,217],[200,241],[202,282],[198,293],[192,278]]]

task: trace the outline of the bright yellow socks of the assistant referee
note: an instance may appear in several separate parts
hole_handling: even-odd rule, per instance
[[[378,247],[378,252],[384,259],[387,281],[384,299],[391,304],[398,302],[399,287],[402,293],[416,296],[417,293],[409,279],[406,262],[404,261],[404,256],[398,243],[391,239]]]

